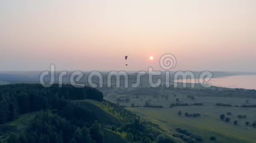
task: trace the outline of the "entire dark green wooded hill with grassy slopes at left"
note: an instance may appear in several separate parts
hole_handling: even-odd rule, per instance
[[[0,86],[1,143],[176,143],[158,125],[90,87]]]

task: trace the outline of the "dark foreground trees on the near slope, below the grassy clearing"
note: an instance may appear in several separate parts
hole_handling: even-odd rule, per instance
[[[94,114],[71,101],[65,105],[59,115],[41,111],[22,134],[11,134],[7,139],[7,143],[103,143],[103,141],[104,134]]]

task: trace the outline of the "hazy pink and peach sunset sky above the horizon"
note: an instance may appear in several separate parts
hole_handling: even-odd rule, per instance
[[[256,72],[256,0],[0,0],[0,71],[163,70],[166,53]]]

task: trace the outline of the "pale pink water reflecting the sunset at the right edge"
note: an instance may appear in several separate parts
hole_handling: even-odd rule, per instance
[[[182,82],[182,80],[177,80]],[[198,83],[198,79],[189,82]],[[213,78],[207,84],[227,88],[256,89],[256,75],[235,75]]]

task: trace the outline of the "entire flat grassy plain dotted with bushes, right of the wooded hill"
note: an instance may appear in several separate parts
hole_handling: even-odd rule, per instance
[[[205,143],[254,143],[256,128],[252,123],[256,121],[256,108],[234,107],[256,104],[255,91],[236,90],[226,88],[212,88],[211,90],[164,90],[157,88],[112,89],[105,90],[104,99],[127,107],[144,119],[161,126],[170,135],[177,134],[175,130],[182,128],[193,134],[202,136]],[[194,99],[190,97],[194,97]],[[117,99],[124,101],[118,101]],[[125,99],[129,99],[125,101]],[[179,101],[177,101],[179,99]],[[151,105],[161,105],[163,108],[143,107],[146,102]],[[174,106],[170,104],[202,103],[203,106]],[[215,104],[230,104],[233,107],[215,106]],[[135,107],[131,107],[132,104]],[[177,113],[181,111],[182,115]],[[201,114],[200,117],[186,117],[185,113]],[[227,112],[231,112],[228,115]],[[230,122],[222,121],[219,116],[225,114]],[[246,115],[238,118],[237,115]],[[233,122],[238,124],[234,125]],[[245,122],[249,122],[247,126]],[[216,140],[211,141],[211,136]]]

